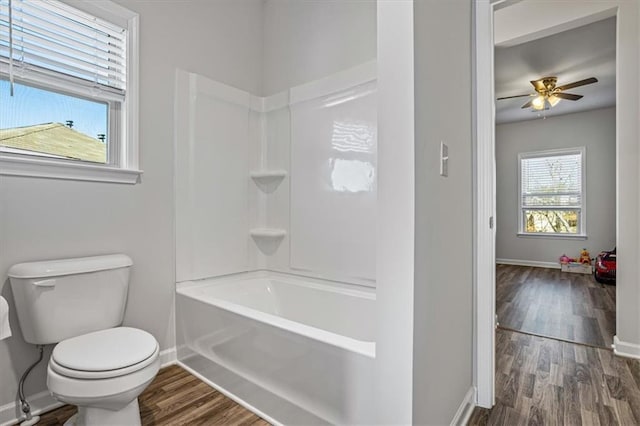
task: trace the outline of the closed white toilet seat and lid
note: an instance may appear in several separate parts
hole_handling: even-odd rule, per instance
[[[144,330],[117,327],[60,342],[49,366],[77,379],[105,379],[131,374],[158,358],[156,339]]]

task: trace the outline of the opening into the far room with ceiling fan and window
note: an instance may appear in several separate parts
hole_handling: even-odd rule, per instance
[[[616,246],[616,18],[494,58],[499,326],[610,349],[615,281],[592,272]]]

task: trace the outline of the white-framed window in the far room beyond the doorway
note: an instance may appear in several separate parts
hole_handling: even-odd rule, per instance
[[[585,235],[585,149],[518,155],[521,235]]]

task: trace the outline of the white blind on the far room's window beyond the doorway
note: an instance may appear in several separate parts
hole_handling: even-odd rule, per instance
[[[582,206],[582,153],[521,158],[522,208]]]

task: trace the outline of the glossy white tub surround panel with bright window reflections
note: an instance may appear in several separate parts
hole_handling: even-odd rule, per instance
[[[361,72],[366,67],[360,67]],[[358,76],[359,77],[359,76]],[[375,280],[376,83],[320,96],[306,87],[291,105],[291,269],[325,278]],[[339,86],[338,86],[339,87]]]

